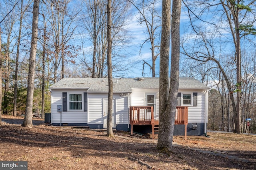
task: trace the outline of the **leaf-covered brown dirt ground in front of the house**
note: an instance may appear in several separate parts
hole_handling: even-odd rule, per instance
[[[209,138],[186,141],[174,136],[168,157],[150,136],[117,131],[108,138],[104,130],[46,126],[39,118],[33,118],[32,129],[20,126],[23,117],[2,115],[2,121],[0,161],[28,161],[29,170],[256,169],[255,135],[208,132]]]

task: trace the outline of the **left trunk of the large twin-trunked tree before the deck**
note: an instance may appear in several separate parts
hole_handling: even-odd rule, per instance
[[[158,150],[172,147],[170,141],[170,120],[166,110],[168,103],[168,85],[169,85],[169,53],[170,53],[170,34],[171,34],[171,1],[162,1],[162,35],[160,46],[160,76],[159,76],[159,134],[157,148]],[[166,152],[166,151],[164,151]]]

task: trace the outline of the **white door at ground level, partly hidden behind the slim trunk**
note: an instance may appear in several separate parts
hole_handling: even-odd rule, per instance
[[[103,128],[107,128],[108,122],[108,99],[103,99]],[[112,128],[116,128],[116,100],[112,105]]]

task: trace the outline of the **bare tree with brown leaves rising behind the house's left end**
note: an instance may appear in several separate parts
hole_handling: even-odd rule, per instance
[[[50,24],[49,47],[53,63],[53,82],[65,75],[65,62],[75,63],[76,46],[70,44],[77,25],[74,24],[80,11],[70,9],[70,0],[46,0],[44,17]],[[61,68],[60,68],[61,67]],[[59,69],[61,70],[59,73]]]

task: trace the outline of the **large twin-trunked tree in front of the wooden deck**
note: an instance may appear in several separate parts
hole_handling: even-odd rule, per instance
[[[158,150],[170,154],[177,106],[179,86],[179,59],[180,59],[180,13],[181,0],[162,2],[162,35],[160,48],[160,84],[159,84],[159,135]],[[172,28],[171,27],[172,24]],[[170,32],[172,33],[172,59],[170,72],[170,87],[168,78]]]

